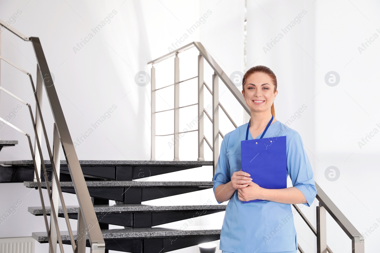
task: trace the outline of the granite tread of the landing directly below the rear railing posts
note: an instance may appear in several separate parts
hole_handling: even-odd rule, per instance
[[[17,143],[16,143],[17,144]],[[51,165],[50,160],[44,160],[46,165]],[[33,160],[0,161],[7,165],[33,165]],[[67,165],[65,159],[60,164]],[[79,160],[81,165],[213,165],[212,161],[150,161],[150,160]]]

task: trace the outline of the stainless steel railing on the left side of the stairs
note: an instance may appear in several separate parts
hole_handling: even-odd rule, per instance
[[[0,62],[1,60],[6,63],[11,64],[11,66],[17,68],[19,71],[28,75],[30,83],[32,85],[33,94],[35,96],[36,101],[36,118],[33,118],[33,112],[31,105],[27,102],[23,101],[16,95],[11,92],[5,90],[0,86],[0,90],[12,96],[14,99],[22,102],[27,105],[29,108],[30,116],[32,119],[33,129],[35,133],[35,148],[33,151],[32,141],[30,140],[30,135],[21,129],[17,128],[13,124],[5,121],[0,118],[2,123],[7,124],[10,127],[13,127],[20,133],[24,134],[28,138],[28,143],[30,146],[30,152],[32,153],[33,165],[35,169],[35,180],[38,184],[38,189],[40,193],[41,204],[43,208],[44,222],[46,226],[46,232],[49,240],[49,252],[55,253],[57,252],[57,240],[59,244],[59,249],[61,253],[64,253],[62,239],[60,236],[60,229],[57,222],[58,217],[58,198],[63,207],[63,212],[65,216],[65,221],[67,225],[67,229],[70,235],[70,242],[72,245],[72,250],[75,253],[84,253],[86,251],[86,234],[89,237],[90,241],[90,251],[93,253],[104,253],[105,252],[105,241],[103,239],[103,235],[100,230],[100,226],[97,220],[97,216],[95,214],[95,210],[92,205],[92,201],[90,198],[89,191],[87,189],[86,181],[84,180],[84,176],[82,173],[81,165],[79,164],[78,157],[76,155],[73,141],[71,140],[70,132],[67,127],[67,123],[65,120],[65,116],[63,115],[62,107],[60,105],[57,92],[55,90],[55,86],[53,80],[51,78],[51,74],[49,71],[49,67],[47,66],[46,58],[40,43],[40,39],[37,37],[26,37],[19,31],[15,30],[13,27],[8,26],[3,20],[0,20],[0,27],[5,27],[6,30],[11,31],[19,38],[24,41],[31,41],[32,46],[36,55],[37,60],[37,79],[36,79],[36,88],[33,83],[32,75],[20,68],[16,64],[11,63],[11,61],[5,59],[1,56],[0,52]],[[0,35],[1,36],[1,35]],[[0,37],[0,48],[1,48],[1,37]],[[45,86],[47,100],[49,101],[51,111],[54,118],[54,136],[53,136],[53,146],[49,144],[49,139],[46,132],[46,127],[44,124],[42,111],[41,111],[41,101],[42,101],[42,86]],[[49,179],[47,177],[46,167],[43,159],[42,149],[41,149],[41,130],[44,134],[44,139],[46,142],[47,151],[49,154],[49,159],[52,165],[52,182],[49,186]],[[63,199],[62,190],[59,182],[59,150],[60,145],[62,145],[63,153],[65,154],[65,159],[67,161],[68,169],[70,171],[71,180],[73,181],[74,189],[76,196],[79,202],[79,212],[78,212],[78,231],[77,231],[77,240],[74,240],[73,231],[70,226],[69,217],[67,214],[67,209],[65,206],[65,200]],[[38,152],[36,151],[38,149]],[[49,202],[51,205],[51,223],[49,227],[49,223],[47,221],[46,209],[44,204],[44,199],[42,195],[41,182],[40,182],[40,170],[41,165],[43,168],[44,179],[46,181],[47,193],[49,196]],[[85,236],[83,236],[85,235]]]

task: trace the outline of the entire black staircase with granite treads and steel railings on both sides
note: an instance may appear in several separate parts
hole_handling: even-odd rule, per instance
[[[200,42],[187,44],[148,63],[152,64],[150,75],[152,99],[152,145],[150,161],[84,161],[79,160],[77,157],[57,96],[57,91],[55,90],[53,79],[49,67],[47,66],[40,39],[27,37],[13,27],[8,26],[2,20],[0,20],[0,25],[24,41],[32,42],[38,63],[36,82],[33,82],[30,73],[0,55],[0,60],[11,64],[28,76],[36,101],[36,115],[34,117],[30,104],[0,86],[0,90],[28,106],[32,119],[35,134],[34,148],[28,133],[0,118],[3,123],[28,138],[30,152],[32,154],[32,160],[0,162],[0,164],[2,164],[0,165],[2,170],[0,172],[5,171],[6,175],[11,173],[10,177],[0,177],[0,181],[24,181],[26,187],[38,189],[41,198],[41,207],[28,207],[28,211],[36,216],[43,215],[46,232],[35,232],[32,234],[33,238],[40,243],[49,243],[49,252],[57,252],[58,246],[61,253],[64,253],[63,244],[70,244],[74,253],[84,253],[86,247],[90,247],[90,252],[92,253],[103,253],[108,252],[108,250],[158,253],[190,247],[204,242],[211,242],[220,238],[220,229],[191,229],[190,226],[185,229],[168,229],[160,227],[153,228],[153,226],[160,226],[169,222],[222,212],[226,209],[226,205],[149,206],[141,204],[142,201],[196,192],[213,187],[211,179],[210,181],[203,182],[157,182],[144,181],[141,179],[207,165],[211,165],[215,173],[218,161],[219,137],[224,138],[223,133],[219,129],[219,108],[231,121],[233,126],[237,127],[223,105],[218,101],[219,79],[226,85],[237,102],[250,113],[250,109],[245,104],[241,91],[237,89],[235,84],[229,79]],[[178,55],[194,47],[198,50],[197,53],[199,52],[198,75],[190,79],[196,78],[198,80],[198,103],[179,107],[180,83],[190,79],[180,81]],[[173,56],[175,56],[174,83],[156,89],[156,70],[154,64],[157,66],[161,61]],[[206,60],[214,71],[212,84],[210,86],[204,82],[204,60]],[[169,111],[156,111],[156,91],[169,86],[174,86],[174,108],[169,109],[173,110],[174,114],[174,133],[169,134],[173,135],[173,139],[179,141],[180,134],[184,133],[179,131],[179,109],[188,106],[197,106],[198,108],[198,129],[188,131],[198,132],[198,157],[195,158],[196,161],[179,160],[178,141],[174,145],[173,161],[156,161],[155,159],[155,138],[157,136],[166,136],[156,134],[155,117],[157,113]],[[43,88],[46,91],[47,101],[49,102],[54,118],[52,147],[49,143],[42,110],[40,108]],[[212,96],[212,115],[209,115],[204,109],[204,90],[209,91]],[[204,117],[205,115],[207,117]],[[207,120],[207,118],[212,123],[212,138],[210,138],[210,140],[204,135],[204,119]],[[42,134],[44,135],[44,141],[49,154],[48,160],[44,160],[42,154]],[[7,143],[4,144],[6,145]],[[211,161],[205,161],[204,159],[204,144],[207,144],[212,151]],[[60,161],[61,146],[65,155],[64,161]],[[135,179],[139,179],[139,181],[133,181]],[[47,182],[49,185],[47,185]],[[321,187],[317,183],[315,183],[315,185],[317,187],[316,198],[319,201],[316,207],[317,227],[313,227],[312,223],[309,222],[298,206],[293,205],[293,207],[298,214],[301,215],[312,233],[317,237],[317,252],[332,253],[326,240],[326,214],[329,213],[350,238],[352,242],[352,252],[364,253],[363,236],[331,201],[326,193],[323,192]],[[46,189],[48,193],[50,207],[44,204],[43,189]],[[62,192],[75,194],[79,206],[65,206]],[[62,206],[58,206],[58,200],[60,200]],[[109,200],[113,200],[117,202],[117,204],[110,206]],[[47,216],[51,218],[50,223],[47,220]],[[61,231],[59,228],[58,217],[65,218],[67,231]],[[77,231],[71,229],[69,219],[78,220]],[[124,228],[109,229],[109,225],[118,225]],[[304,253],[299,245],[298,250]]]

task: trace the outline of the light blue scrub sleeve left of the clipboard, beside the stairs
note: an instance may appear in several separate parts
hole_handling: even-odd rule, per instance
[[[226,134],[222,140],[222,144],[220,145],[219,159],[216,166],[214,180],[212,181],[214,183],[214,187],[212,188],[214,190],[214,194],[218,185],[226,184],[231,181],[230,164],[228,163],[227,158],[227,143],[229,138],[230,134]],[[222,203],[219,201],[217,202],[218,204]]]

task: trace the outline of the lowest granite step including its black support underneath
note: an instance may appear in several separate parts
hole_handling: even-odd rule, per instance
[[[220,229],[204,228],[206,228],[206,226],[189,226],[187,229],[125,228],[102,229],[101,231],[106,243],[106,249],[108,250],[158,253],[178,250],[220,239]],[[74,240],[76,240],[76,231],[73,231],[73,234]],[[40,243],[47,243],[46,232],[32,233],[32,237]],[[70,244],[67,231],[61,231],[61,238],[64,244]],[[86,247],[90,247],[88,240]]]

